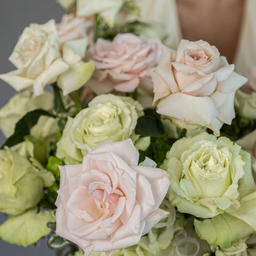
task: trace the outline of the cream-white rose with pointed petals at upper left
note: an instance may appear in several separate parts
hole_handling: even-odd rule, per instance
[[[93,63],[84,63],[87,39],[60,45],[55,21],[43,25],[30,24],[21,34],[9,60],[17,70],[1,74],[0,78],[16,91],[32,89],[43,93],[47,84],[57,81],[67,95],[79,89],[90,78]]]

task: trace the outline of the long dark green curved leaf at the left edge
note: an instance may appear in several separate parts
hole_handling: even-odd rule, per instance
[[[49,112],[37,109],[33,110],[31,112],[28,112],[25,116],[23,116],[15,126],[14,134],[9,137],[5,143],[1,146],[1,149],[4,146],[14,146],[20,142],[24,141],[24,136],[30,134],[30,129],[37,123],[38,118],[42,115],[45,116],[53,116]]]

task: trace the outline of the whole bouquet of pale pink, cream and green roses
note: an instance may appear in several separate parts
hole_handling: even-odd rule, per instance
[[[0,237],[48,236],[63,256],[256,255],[255,68],[248,81],[202,40],[165,46],[136,1],[59,3],[69,14],[26,27],[0,75],[18,91],[0,110]]]

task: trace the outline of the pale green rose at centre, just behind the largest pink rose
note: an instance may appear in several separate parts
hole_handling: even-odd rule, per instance
[[[75,118],[68,117],[62,138],[57,143],[56,156],[66,164],[82,162],[87,153],[85,144],[96,148],[102,142],[117,142],[132,137],[142,106],[130,97],[102,94]]]

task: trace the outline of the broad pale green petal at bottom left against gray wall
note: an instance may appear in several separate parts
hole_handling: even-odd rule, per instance
[[[55,221],[52,210],[37,213],[36,209],[28,210],[18,216],[10,217],[0,225],[0,237],[10,244],[28,246],[50,233],[48,222]]]

